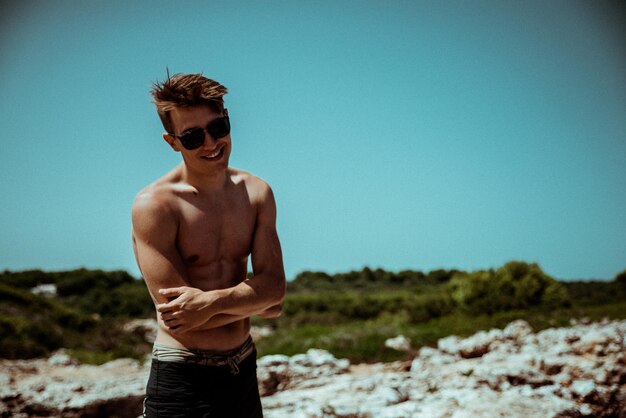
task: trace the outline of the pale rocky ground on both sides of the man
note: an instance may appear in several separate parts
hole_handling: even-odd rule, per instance
[[[0,361],[0,416],[135,418],[147,374],[132,360],[79,365],[63,352]],[[258,376],[267,418],[625,418],[626,321],[538,333],[515,321],[441,339],[412,362],[266,356]]]

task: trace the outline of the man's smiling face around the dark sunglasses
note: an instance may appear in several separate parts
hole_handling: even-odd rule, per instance
[[[194,128],[204,129],[214,120],[227,115],[227,110],[224,110],[224,114],[216,113],[208,106],[175,108],[170,112],[174,127],[172,133],[181,136]],[[186,149],[178,138],[167,134],[163,137],[174,151],[182,153],[183,160],[188,165],[193,164],[194,167],[198,168],[203,166],[228,167],[231,150],[230,134],[222,138],[213,138],[211,134],[205,131],[204,143],[193,150]]]

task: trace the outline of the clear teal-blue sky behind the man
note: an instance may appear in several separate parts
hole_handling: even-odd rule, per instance
[[[178,164],[148,91],[226,85],[288,277],[626,269],[626,18],[602,1],[3,1],[0,269],[138,276],[130,205]]]

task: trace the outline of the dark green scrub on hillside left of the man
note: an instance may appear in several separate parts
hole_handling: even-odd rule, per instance
[[[55,285],[56,296],[32,291],[41,285]],[[121,328],[126,320],[153,312],[144,283],[123,271],[5,271],[0,274],[0,357],[31,358],[63,347],[97,362],[140,358],[149,345]]]

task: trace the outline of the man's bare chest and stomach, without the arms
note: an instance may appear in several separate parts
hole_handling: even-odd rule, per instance
[[[151,187],[166,193],[176,214],[175,245],[188,286],[205,291],[224,289],[246,279],[257,213],[253,176],[229,169],[223,190],[206,193],[180,182],[174,170]],[[249,331],[249,319],[242,319],[218,328],[173,335],[159,319],[157,342],[226,351],[241,346]]]

